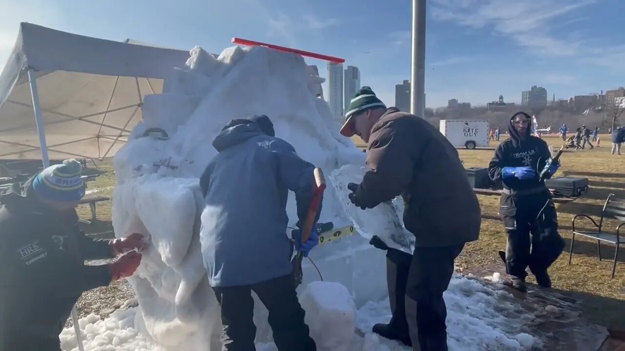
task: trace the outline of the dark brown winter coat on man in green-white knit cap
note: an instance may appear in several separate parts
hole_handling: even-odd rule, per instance
[[[402,195],[404,225],[417,247],[477,240],[481,211],[453,147],[423,119],[391,107],[373,126],[367,167],[356,191],[368,208]]]

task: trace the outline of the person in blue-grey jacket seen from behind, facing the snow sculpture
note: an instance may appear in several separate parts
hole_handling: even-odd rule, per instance
[[[254,350],[252,291],[269,310],[279,351],[316,350],[297,300],[293,247],[285,235],[288,192],[295,193],[301,229],[312,200],[314,166],[275,136],[264,115],[230,121],[212,146],[219,153],[200,178],[206,203],[200,242],[221,305],[222,350]],[[319,242],[316,225],[309,238],[304,244],[293,238],[305,256]]]

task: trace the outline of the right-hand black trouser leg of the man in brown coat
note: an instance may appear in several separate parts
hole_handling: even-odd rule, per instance
[[[447,307],[442,293],[449,286],[454,260],[463,247],[414,249],[406,284],[406,319],[414,350],[447,350]]]

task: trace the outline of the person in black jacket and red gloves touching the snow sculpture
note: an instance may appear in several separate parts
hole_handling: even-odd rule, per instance
[[[75,207],[85,185],[78,161],[48,167],[0,196],[0,351],[61,350],[59,334],[80,295],[129,277],[143,235],[91,240]],[[84,260],[108,259],[108,265]]]

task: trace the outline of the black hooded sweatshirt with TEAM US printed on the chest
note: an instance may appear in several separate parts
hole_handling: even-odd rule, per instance
[[[502,179],[501,170],[504,167],[532,167],[536,173],[541,171],[547,159],[551,157],[549,146],[539,137],[531,135],[531,128],[526,129],[526,138],[521,140],[519,132],[512,124],[512,120],[517,115],[522,114],[531,121],[531,116],[525,112],[517,112],[508,123],[509,139],[502,142],[495,150],[495,156],[488,164],[488,173],[493,181],[502,180],[504,188],[513,190],[526,190],[536,187],[544,187],[544,182],[535,179],[518,179],[515,177]]]

